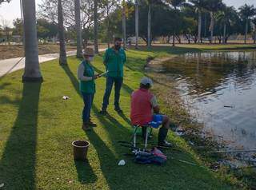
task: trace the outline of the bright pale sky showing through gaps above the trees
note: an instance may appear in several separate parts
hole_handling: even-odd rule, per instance
[[[40,4],[42,0],[35,0],[36,4]],[[238,8],[239,6],[244,5],[245,3],[249,5],[256,6],[256,0],[223,0],[228,6],[234,6]],[[10,3],[2,3],[0,6],[0,24],[2,19],[6,20],[10,26],[12,26],[12,21],[15,18],[20,18],[20,0],[11,0]]]

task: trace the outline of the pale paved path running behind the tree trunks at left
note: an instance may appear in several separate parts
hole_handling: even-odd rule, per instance
[[[105,49],[99,49],[100,52]],[[66,52],[67,56],[76,55],[76,51]],[[58,59],[59,53],[50,53],[45,55],[39,55],[39,63],[51,61],[54,59]],[[0,77],[5,76],[8,73],[13,73],[16,70],[24,69],[25,67],[25,58],[17,57],[12,59],[0,60]]]

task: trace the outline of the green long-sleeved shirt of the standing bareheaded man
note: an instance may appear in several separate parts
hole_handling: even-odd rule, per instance
[[[126,62],[124,49],[121,48],[118,52],[113,48],[106,49],[103,61],[106,63],[106,70],[109,71],[108,77],[123,77],[123,65]]]

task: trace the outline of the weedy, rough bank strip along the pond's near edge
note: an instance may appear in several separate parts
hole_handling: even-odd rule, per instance
[[[243,49],[235,49],[235,50],[238,51]],[[255,50],[255,49],[252,49],[252,50]],[[216,51],[214,50],[214,52]],[[200,156],[202,156],[202,160],[205,161],[206,166],[212,169],[214,172],[222,171],[223,168],[225,168],[224,170],[226,170],[227,173],[234,173],[234,172],[237,172],[238,170],[245,171],[247,167],[252,166],[251,165],[252,163],[250,163],[250,165],[245,161],[241,162],[243,164],[236,163],[234,161],[230,161],[230,160],[233,160],[234,158],[233,155],[229,153],[227,154],[225,151],[218,152],[219,150],[226,150],[226,151],[231,150],[230,148],[227,147],[225,139],[224,140],[222,139],[222,141],[220,141],[220,139],[216,139],[216,137],[214,137],[214,134],[205,133],[203,131],[203,128],[204,128],[203,125],[197,123],[197,121],[194,121],[193,117],[190,115],[189,111],[187,110],[186,105],[184,105],[184,101],[182,101],[182,98],[178,93],[178,89],[175,88],[176,82],[175,81],[170,82],[170,79],[168,82],[166,82],[165,81],[166,79],[164,79],[166,78],[166,76],[163,73],[161,72],[154,73],[154,69],[158,68],[159,65],[162,65],[166,61],[170,61],[176,56],[157,57],[157,58],[150,57],[148,59],[149,61],[146,62],[146,67],[145,67],[148,76],[157,78],[156,80],[154,80],[154,82],[157,83],[157,85],[155,86],[154,92],[158,92],[158,97],[160,97],[162,101],[162,105],[166,106],[166,109],[164,109],[165,113],[169,115],[171,118],[173,115],[175,115],[176,118],[181,118],[180,121],[178,121],[179,119],[176,119],[176,121],[174,120],[175,125],[179,126],[178,129],[175,130],[175,133],[183,137],[183,139],[185,139],[186,142],[190,144],[190,147],[195,152],[197,152]],[[171,84],[168,84],[168,83],[171,83]],[[166,84],[169,85],[170,87],[169,89],[166,89]],[[168,94],[168,95],[171,94],[171,96],[169,97],[162,94]],[[178,105],[174,105],[174,104],[178,104]],[[177,108],[178,108],[178,111],[175,112],[174,109],[177,110]],[[182,113],[182,114],[178,116],[178,113]],[[207,153],[207,152],[211,152],[211,153]],[[238,154],[238,152],[234,152],[234,153],[237,153],[235,158],[238,158],[238,156],[241,156]],[[253,166],[256,167],[256,164],[253,163]],[[255,172],[256,171],[253,170],[251,172],[251,175],[254,175]]]

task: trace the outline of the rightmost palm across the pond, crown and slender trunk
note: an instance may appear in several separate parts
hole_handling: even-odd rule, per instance
[[[245,4],[244,6],[239,7],[240,15],[242,19],[246,22],[246,31],[245,31],[245,44],[247,42],[247,34],[248,34],[248,25],[250,18],[252,18],[256,12],[254,6],[248,6]]]

